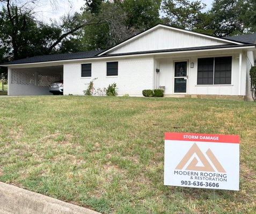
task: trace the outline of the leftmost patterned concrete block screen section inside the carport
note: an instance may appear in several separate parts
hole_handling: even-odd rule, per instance
[[[11,83],[18,85],[35,85],[35,73],[24,71],[12,71]]]

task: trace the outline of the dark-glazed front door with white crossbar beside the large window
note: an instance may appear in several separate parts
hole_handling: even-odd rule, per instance
[[[175,62],[174,93],[187,93],[187,62]]]

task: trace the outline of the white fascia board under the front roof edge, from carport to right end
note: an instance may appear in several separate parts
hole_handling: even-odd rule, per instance
[[[21,63],[21,64],[11,64],[11,65],[1,65],[3,67],[9,68],[18,68],[20,66],[54,66],[53,63],[57,65],[63,65],[64,63],[76,63],[76,62],[84,62],[84,61],[97,61],[102,59],[115,59],[115,58],[130,58],[130,57],[147,57],[147,56],[161,56],[167,54],[177,54],[177,53],[195,53],[195,52],[206,52],[206,51],[215,51],[215,50],[242,50],[246,49],[247,51],[254,51],[256,50],[255,45],[246,46],[246,47],[232,47],[232,48],[215,48],[215,49],[204,49],[204,50],[187,50],[187,51],[166,51],[166,52],[154,52],[154,53],[141,53],[141,54],[127,54],[127,55],[118,55],[118,56],[107,56],[107,57],[94,57],[94,58],[82,58],[82,59],[67,59],[67,60],[58,60],[58,61],[50,61],[50,62],[39,62],[39,63]],[[47,65],[50,64],[50,65]]]

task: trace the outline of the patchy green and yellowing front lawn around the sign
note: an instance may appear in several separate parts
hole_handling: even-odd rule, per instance
[[[103,213],[255,213],[256,103],[0,98],[0,180]],[[239,134],[240,191],[163,185],[164,132]]]

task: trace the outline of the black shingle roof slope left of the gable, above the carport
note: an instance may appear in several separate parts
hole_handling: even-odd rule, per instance
[[[91,58],[91,57],[97,56],[101,52],[103,52],[103,50],[42,55],[42,56],[29,57],[25,59],[18,59],[8,63],[4,63],[2,65],[41,63],[41,62],[50,62],[50,61],[59,61],[59,60],[68,60],[68,59],[84,59],[84,58]]]

